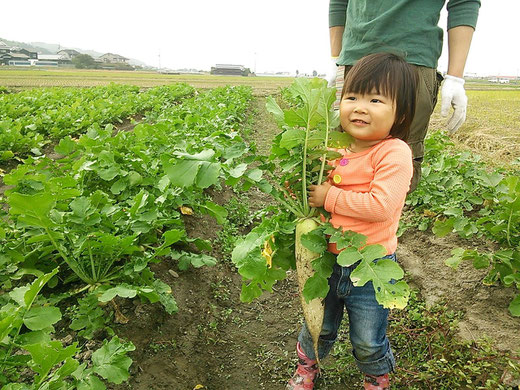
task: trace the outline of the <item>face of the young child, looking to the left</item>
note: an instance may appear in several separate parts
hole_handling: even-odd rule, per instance
[[[386,96],[346,92],[340,103],[341,127],[356,140],[380,141],[395,122],[395,102]]]

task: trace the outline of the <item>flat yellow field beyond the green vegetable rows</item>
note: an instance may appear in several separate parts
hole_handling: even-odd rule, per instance
[[[110,83],[150,88],[173,83],[188,83],[195,88],[247,85],[255,95],[278,92],[292,78],[239,77],[212,75],[170,75],[145,71],[78,69],[0,69],[0,87],[22,90],[37,87],[92,87]],[[491,164],[509,165],[520,156],[520,83],[497,84],[485,80],[468,81],[467,121],[453,139],[462,148],[482,154]],[[431,129],[441,130],[445,119],[437,105]]]

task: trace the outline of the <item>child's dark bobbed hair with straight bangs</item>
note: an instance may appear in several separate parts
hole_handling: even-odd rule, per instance
[[[390,135],[408,139],[415,115],[418,76],[415,68],[392,53],[376,53],[361,58],[348,72],[341,92],[362,95],[377,93],[396,104],[395,122]]]

